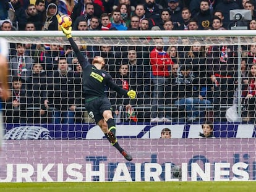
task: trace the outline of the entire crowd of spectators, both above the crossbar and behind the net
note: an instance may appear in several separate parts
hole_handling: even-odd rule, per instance
[[[243,25],[255,30],[254,5],[252,0],[10,0],[0,2],[0,19],[3,31],[60,30],[62,14],[70,15],[73,30],[82,31],[230,30],[236,23],[229,20],[229,10],[247,9],[252,20]],[[202,46],[195,41],[192,46],[166,47],[164,38],[154,41],[155,47],[80,46],[89,63],[95,56],[103,57],[113,80],[137,91],[134,102],[108,93],[116,117],[128,122],[171,122],[175,117],[195,122],[205,117],[196,106],[212,104],[214,120],[226,120],[223,106],[233,104],[237,89],[237,46]],[[252,44],[242,49],[247,111],[243,115],[250,122],[255,120],[256,48]],[[82,71],[75,57],[70,46],[11,43],[13,94],[6,102],[6,122],[83,122],[83,112],[78,110],[83,107]],[[137,119],[133,106],[150,104],[148,117],[137,114]],[[177,106],[183,113],[164,113],[164,105]]]

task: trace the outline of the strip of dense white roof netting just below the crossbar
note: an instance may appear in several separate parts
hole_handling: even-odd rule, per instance
[[[154,46],[154,40],[156,38],[160,38],[161,36],[148,36],[148,37],[141,37],[141,36],[121,36],[116,38],[109,38],[109,37],[75,37],[75,43],[78,45],[95,45],[100,46],[102,44],[107,44],[109,46]],[[69,44],[69,41],[65,37],[6,37],[7,40],[11,43],[36,43],[36,44]],[[191,45],[196,42],[200,43],[201,45],[238,45],[238,44],[255,44],[256,38],[255,36],[208,36],[208,37],[164,37],[164,46],[181,46],[181,44]]]

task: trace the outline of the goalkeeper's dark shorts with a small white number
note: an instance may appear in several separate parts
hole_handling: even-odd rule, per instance
[[[104,111],[113,111],[110,101],[108,100],[108,98],[105,97],[96,98],[90,102],[85,103],[85,108],[88,112],[88,115],[95,119],[95,122],[97,124],[101,119],[103,119]]]

